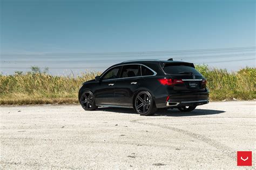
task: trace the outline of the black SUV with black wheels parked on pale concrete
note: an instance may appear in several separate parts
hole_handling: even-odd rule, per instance
[[[131,60],[109,67],[86,81],[78,98],[84,110],[98,106],[131,107],[140,115],[157,108],[194,110],[208,103],[206,79],[194,64],[169,60]]]

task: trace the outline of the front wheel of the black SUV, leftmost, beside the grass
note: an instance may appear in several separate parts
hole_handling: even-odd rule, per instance
[[[98,108],[98,106],[95,104],[95,98],[90,91],[85,91],[80,97],[79,102],[86,111],[93,111]]]

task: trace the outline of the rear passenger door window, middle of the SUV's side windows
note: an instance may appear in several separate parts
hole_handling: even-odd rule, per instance
[[[141,76],[140,65],[138,64],[124,65],[120,75],[121,75],[120,78]]]

